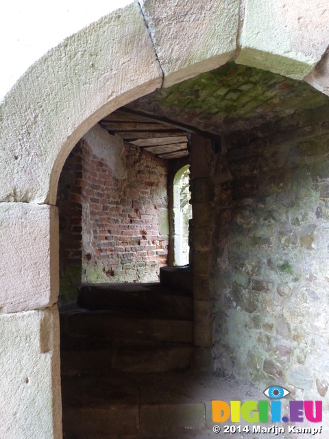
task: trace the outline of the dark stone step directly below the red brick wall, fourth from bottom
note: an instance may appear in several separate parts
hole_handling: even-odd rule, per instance
[[[191,295],[159,283],[85,284],[80,288],[77,303],[90,310],[143,311],[159,317],[193,318]]]

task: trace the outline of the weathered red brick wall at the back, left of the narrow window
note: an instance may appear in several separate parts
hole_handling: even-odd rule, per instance
[[[167,161],[129,143],[120,161],[124,178],[84,139],[66,160],[58,186],[61,289],[73,265],[82,265],[83,282],[154,282],[167,263]]]

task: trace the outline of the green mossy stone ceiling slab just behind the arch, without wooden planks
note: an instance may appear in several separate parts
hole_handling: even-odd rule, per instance
[[[328,98],[304,82],[233,61],[130,104],[215,133],[260,126]]]

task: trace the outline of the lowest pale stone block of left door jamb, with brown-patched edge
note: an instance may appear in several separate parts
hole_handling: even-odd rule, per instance
[[[62,438],[57,307],[0,315],[1,439]]]

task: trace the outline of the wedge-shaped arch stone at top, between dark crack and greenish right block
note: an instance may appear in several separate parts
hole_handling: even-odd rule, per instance
[[[240,1],[141,2],[164,86],[225,64],[236,49]]]

